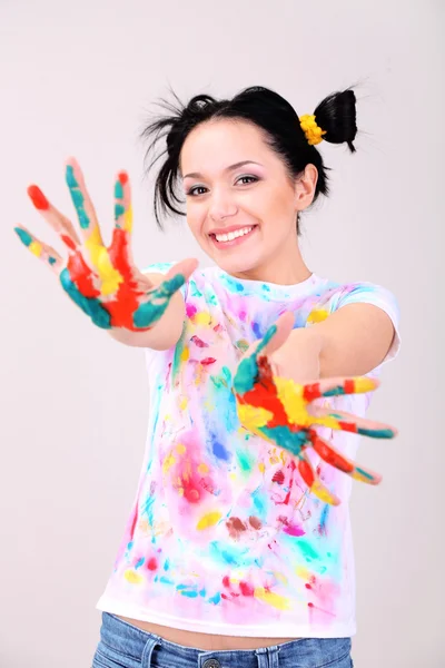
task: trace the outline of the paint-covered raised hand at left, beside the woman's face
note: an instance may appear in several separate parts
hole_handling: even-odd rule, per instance
[[[155,285],[135,266],[131,256],[132,212],[128,175],[121,171],[116,179],[115,228],[108,247],[103,244],[82,173],[72,158],[66,165],[66,180],[79,218],[80,238],[71,222],[48,202],[38,186],[30,186],[28,194],[67,246],[68,257],[62,258],[22,226],[16,227],[18,236],[59,276],[63,289],[98,327],[122,327],[131,332],[151,330],[198,262],[194,258],[179,262],[159,285]]]

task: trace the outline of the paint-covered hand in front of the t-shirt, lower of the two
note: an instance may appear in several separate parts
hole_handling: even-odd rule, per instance
[[[309,446],[324,461],[356,480],[378,484],[382,477],[346,459],[318,435],[316,428],[327,426],[380,439],[390,439],[396,431],[348,413],[313,405],[320,397],[370,392],[378,386],[377,381],[360,376],[298,384],[274,375],[268,355],[283,345],[293,322],[290,314],[280,317],[254,352],[248,352],[239,363],[234,377],[238,416],[248,431],[295,455],[299,473],[309,490],[323,501],[336,505],[339,499],[322,483],[310,464],[307,456]]]

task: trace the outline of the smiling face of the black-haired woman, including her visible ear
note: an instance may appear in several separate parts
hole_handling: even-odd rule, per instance
[[[298,281],[296,217],[314,196],[314,166],[291,179],[260,128],[218,119],[188,135],[180,174],[187,223],[216,264],[234,276]]]

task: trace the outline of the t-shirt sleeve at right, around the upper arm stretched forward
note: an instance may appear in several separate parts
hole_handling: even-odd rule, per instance
[[[400,348],[399,306],[394,294],[385,287],[372,283],[345,285],[338,292],[336,291],[336,293],[333,311],[343,308],[343,306],[347,306],[348,304],[374,304],[374,306],[378,306],[390,317],[394,325],[394,338],[390,348],[379,366],[394,360]]]

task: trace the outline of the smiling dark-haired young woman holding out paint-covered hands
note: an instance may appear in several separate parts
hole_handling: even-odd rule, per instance
[[[394,435],[364,414],[398,350],[398,314],[383,287],[312,273],[298,234],[301,212],[328,191],[317,145],[355,150],[355,94],[301,117],[261,87],[169,109],[146,130],[150,149],[167,139],[155,215],[181,213],[184,194],[215,266],[135,267],[125,173],[106,248],[75,160],[79,233],[29,188],[68,259],[17,228],[96,325],[146,352],[147,449],[98,602],[93,666],[346,668],[352,478],[379,480],[353,460],[359,433]]]

